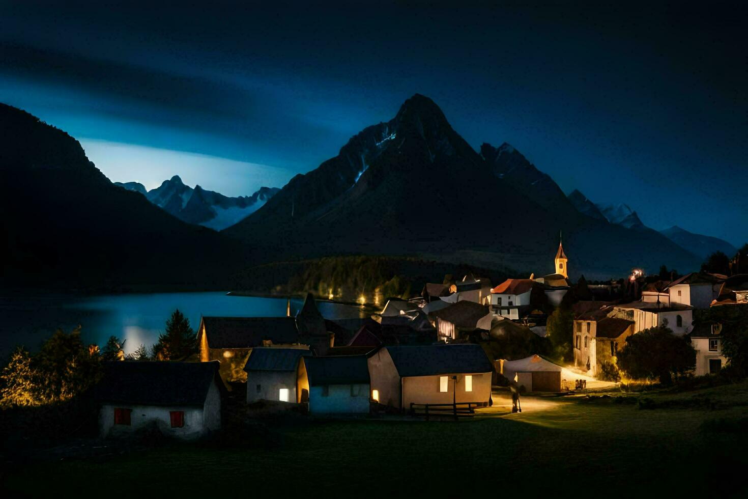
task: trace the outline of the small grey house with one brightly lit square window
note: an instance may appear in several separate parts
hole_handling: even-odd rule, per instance
[[[247,403],[257,400],[301,402],[309,394],[301,393],[296,384],[298,362],[309,350],[267,348],[252,349],[244,367],[247,373]]]

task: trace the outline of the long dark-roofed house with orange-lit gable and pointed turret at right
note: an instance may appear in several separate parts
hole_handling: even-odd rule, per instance
[[[334,342],[309,294],[295,317],[203,316],[197,329],[200,361],[221,363],[227,382],[245,382],[245,365],[258,346],[311,350],[324,354]]]

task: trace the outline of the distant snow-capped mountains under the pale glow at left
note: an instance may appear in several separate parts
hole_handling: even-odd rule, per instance
[[[260,209],[267,200],[280,191],[276,187],[261,187],[251,196],[229,198],[218,192],[206,191],[200,186],[186,186],[179,175],[164,180],[161,186],[146,191],[141,183],[114,183],[130,191],[140,192],[151,203],[190,224],[200,224],[223,230]]]

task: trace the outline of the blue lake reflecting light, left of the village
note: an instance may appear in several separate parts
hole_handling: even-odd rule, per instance
[[[303,300],[291,300],[291,313]],[[361,316],[353,305],[318,301],[325,319]],[[0,298],[0,359],[16,345],[36,351],[41,342],[61,328],[70,332],[82,325],[85,343],[103,346],[108,337],[126,340],[125,352],[141,343],[150,346],[164,331],[166,319],[179,308],[197,331],[200,316],[285,316],[286,299],[230,296],[223,292],[148,293],[105,296],[19,296]]]

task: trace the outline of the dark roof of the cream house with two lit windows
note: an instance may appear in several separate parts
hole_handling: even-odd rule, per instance
[[[400,377],[450,373],[490,373],[491,361],[479,345],[456,343],[422,346],[387,346]]]

